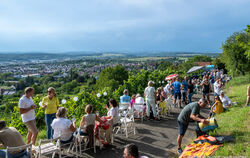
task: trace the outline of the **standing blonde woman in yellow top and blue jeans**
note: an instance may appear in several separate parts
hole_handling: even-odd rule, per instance
[[[56,95],[56,91],[53,87],[48,89],[48,96],[43,98],[42,108],[45,109],[45,122],[47,126],[47,139],[51,139],[53,136],[53,129],[51,123],[56,118],[56,112],[59,107],[59,101]]]

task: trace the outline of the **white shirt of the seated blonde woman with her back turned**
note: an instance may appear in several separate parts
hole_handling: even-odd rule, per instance
[[[72,131],[69,129],[72,122],[66,118],[56,118],[53,120],[51,127],[54,129],[53,138],[61,136],[62,141],[67,141],[72,136]]]

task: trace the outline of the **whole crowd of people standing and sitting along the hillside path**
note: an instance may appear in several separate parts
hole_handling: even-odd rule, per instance
[[[210,106],[211,111],[209,116],[212,117],[220,114],[232,105],[231,100],[222,91],[227,79],[223,71],[211,71],[202,74],[202,80],[198,77],[184,77],[180,81],[179,77],[173,78],[165,87],[154,88],[153,81],[148,82],[148,86],[144,90],[144,97],[141,94],[133,94],[129,96],[129,91],[124,90],[120,97],[120,103],[129,103],[133,107],[134,103],[146,105],[146,116],[150,120],[150,114],[153,114],[153,119],[158,120],[156,107],[167,99],[173,100],[173,106],[183,108],[177,118],[179,135],[177,138],[178,153],[182,152],[182,138],[188,128],[189,122],[194,120],[206,123],[207,120],[200,115],[200,109]],[[197,91],[201,91],[202,98],[198,102],[192,101],[192,96]],[[214,101],[210,100],[210,93],[214,92]],[[27,87],[25,94],[19,100],[19,110],[23,123],[28,129],[27,144],[36,144],[38,128],[36,126],[35,109],[37,106],[32,100],[34,89]],[[145,100],[144,100],[145,98]],[[213,104],[212,104],[213,103]],[[178,104],[178,106],[177,106]],[[165,105],[165,104],[164,104]],[[98,139],[102,144],[109,145],[111,143],[111,132],[119,121],[119,105],[115,99],[109,100],[109,105],[105,105],[107,115],[99,117],[93,113],[93,106],[87,105],[85,115],[82,116],[80,127],[76,127],[76,120],[67,119],[67,110],[59,106],[59,100],[56,90],[53,87],[48,89],[48,95],[43,98],[41,107],[45,109],[45,122],[47,128],[47,139],[60,137],[61,143],[69,143],[74,139],[74,133],[80,132],[80,135],[90,135],[89,131],[94,128],[100,130]],[[162,106],[161,106],[162,107]],[[166,108],[166,107],[165,107]],[[164,110],[164,107],[162,107]],[[106,123],[106,128],[95,127],[96,122],[100,124]],[[8,141],[7,141],[8,140]],[[9,141],[10,140],[10,141]],[[11,141],[13,140],[13,141]],[[15,141],[14,141],[15,140]],[[4,121],[0,121],[0,142],[5,147],[24,145],[24,141],[20,133],[14,127],[6,127]],[[137,154],[134,154],[137,153]],[[0,157],[6,153],[5,150],[0,150]],[[9,153],[9,157],[18,157],[20,154],[25,154],[25,151],[18,153]],[[133,155],[134,154],[134,155]],[[134,145],[126,146],[124,157],[138,157],[138,148]]]

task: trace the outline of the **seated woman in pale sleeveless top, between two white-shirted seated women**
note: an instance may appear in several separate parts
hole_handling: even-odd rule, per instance
[[[95,125],[95,121],[99,121],[102,123],[102,120],[96,115],[93,114],[93,106],[92,105],[87,105],[85,108],[86,114],[82,117],[80,127],[81,127],[81,135],[87,135],[86,128],[89,125]]]

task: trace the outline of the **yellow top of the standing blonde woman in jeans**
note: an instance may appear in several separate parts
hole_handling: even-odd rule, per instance
[[[59,107],[59,100],[57,97],[53,97],[49,99],[49,96],[43,98],[42,105],[46,105],[45,114],[54,114],[57,112],[57,108]]]

